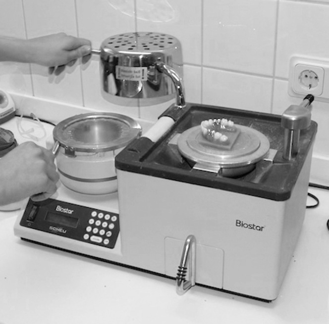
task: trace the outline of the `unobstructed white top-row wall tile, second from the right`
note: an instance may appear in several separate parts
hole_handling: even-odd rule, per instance
[[[205,0],[203,64],[273,75],[276,0]]]

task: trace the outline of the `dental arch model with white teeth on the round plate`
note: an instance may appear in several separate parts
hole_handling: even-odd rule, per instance
[[[227,120],[226,118],[204,120],[201,122],[200,126],[204,138],[210,141],[218,141],[221,143],[224,143],[228,140],[228,137],[225,134],[222,134],[223,132],[236,131],[234,122]]]

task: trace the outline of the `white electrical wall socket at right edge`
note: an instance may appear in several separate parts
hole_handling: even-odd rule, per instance
[[[318,100],[329,102],[329,61],[292,57],[288,81],[291,96],[313,94]]]

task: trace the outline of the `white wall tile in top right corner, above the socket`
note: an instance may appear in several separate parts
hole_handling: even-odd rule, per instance
[[[291,56],[328,59],[328,4],[281,0],[278,17],[276,77],[288,78]]]

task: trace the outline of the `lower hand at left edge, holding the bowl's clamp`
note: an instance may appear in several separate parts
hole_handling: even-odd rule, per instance
[[[51,151],[34,142],[25,142],[0,159],[0,205],[35,194],[38,200],[55,193],[59,176]]]

